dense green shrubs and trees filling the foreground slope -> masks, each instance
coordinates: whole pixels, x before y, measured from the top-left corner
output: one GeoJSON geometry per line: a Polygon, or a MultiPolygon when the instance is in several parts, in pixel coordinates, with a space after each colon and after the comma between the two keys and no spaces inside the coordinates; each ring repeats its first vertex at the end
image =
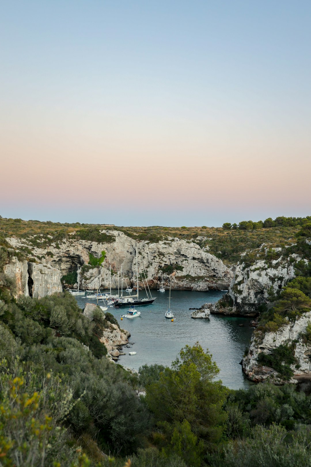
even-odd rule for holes
{"type": "Polygon", "coordinates": [[[112,316],[88,321],[67,293],[15,299],[2,279],[0,466],[310,466],[310,396],[229,390],[199,343],[131,374],[98,340],[112,316]]]}

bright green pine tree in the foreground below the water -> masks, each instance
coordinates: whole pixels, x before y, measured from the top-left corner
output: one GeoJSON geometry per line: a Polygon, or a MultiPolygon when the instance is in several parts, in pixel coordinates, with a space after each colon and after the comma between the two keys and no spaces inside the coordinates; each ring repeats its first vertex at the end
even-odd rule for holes
{"type": "Polygon", "coordinates": [[[218,372],[212,355],[197,342],[181,349],[172,369],[166,368],[159,380],[146,388],[147,405],[158,426],[165,427],[166,444],[171,442],[174,426],[184,420],[207,448],[221,439],[227,417],[222,410],[227,389],[220,381],[212,381],[218,372]]]}

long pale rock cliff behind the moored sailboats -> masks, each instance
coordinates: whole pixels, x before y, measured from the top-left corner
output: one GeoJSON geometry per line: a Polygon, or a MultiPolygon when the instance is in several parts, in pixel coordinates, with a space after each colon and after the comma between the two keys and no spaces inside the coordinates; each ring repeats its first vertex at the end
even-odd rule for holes
{"type": "MultiPolygon", "coordinates": [[[[158,243],[148,241],[136,241],[123,232],[104,231],[115,237],[111,243],[98,243],[96,241],[65,239],[48,248],[40,248],[40,238],[36,239],[36,246],[25,239],[15,237],[7,238],[7,241],[15,249],[29,248],[35,258],[45,266],[58,269],[61,276],[69,271],[76,270],[77,265],[87,265],[89,253],[100,257],[105,251],[105,260],[99,268],[84,267],[82,269],[83,284],[80,288],[85,289],[109,288],[111,266],[113,277],[112,287],[117,287],[116,271],[121,270],[127,278],[127,284],[134,285],[136,281],[136,258],[135,249],[138,248],[138,266],[140,272],[145,270],[148,285],[151,289],[157,289],[161,281],[162,268],[171,267],[164,274],[164,285],[168,287],[171,281],[172,289],[175,290],[199,290],[209,289],[222,290],[228,288],[233,273],[223,262],[210,255],[204,249],[192,241],[170,238],[158,243]],[[173,274],[171,274],[173,271],[173,274]]],[[[40,237],[40,236],[38,236],[40,237]]],[[[42,242],[43,243],[43,242],[42,242]]],[[[125,284],[124,284],[125,285],[125,284]]],[[[121,286],[121,281],[120,281],[121,286]]],[[[143,286],[143,283],[140,283],[143,286]]]]}

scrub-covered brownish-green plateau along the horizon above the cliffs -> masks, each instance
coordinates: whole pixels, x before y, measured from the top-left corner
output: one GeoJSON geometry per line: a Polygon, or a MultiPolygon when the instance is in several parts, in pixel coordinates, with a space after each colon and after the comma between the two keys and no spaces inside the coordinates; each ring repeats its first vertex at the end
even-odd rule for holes
{"type": "MultiPolygon", "coordinates": [[[[64,238],[91,240],[97,242],[114,241],[113,235],[103,230],[118,230],[136,240],[158,242],[168,237],[177,237],[197,242],[206,247],[209,252],[220,258],[225,264],[235,264],[241,253],[259,248],[263,243],[271,246],[281,246],[290,242],[308,218],[276,218],[264,222],[241,221],[239,225],[225,223],[223,227],[118,227],[105,224],[69,224],[38,220],[0,218],[0,245],[5,245],[5,238],[15,235],[25,238],[34,246],[41,248],[51,243],[58,243],[64,238]],[[276,219],[281,219],[276,222],[276,219]],[[285,220],[284,220],[285,219],[285,220]],[[291,219],[291,220],[289,220],[291,219]],[[293,220],[294,219],[294,220],[293,220]],[[269,222],[268,222],[269,221],[269,222]]],[[[31,257],[31,251],[25,251],[26,257],[31,257]]]]}

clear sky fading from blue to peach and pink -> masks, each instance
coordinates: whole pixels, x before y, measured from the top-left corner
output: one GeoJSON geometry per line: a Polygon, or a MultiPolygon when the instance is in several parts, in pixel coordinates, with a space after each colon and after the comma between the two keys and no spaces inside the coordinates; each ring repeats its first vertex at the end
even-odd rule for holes
{"type": "Polygon", "coordinates": [[[311,2],[0,5],[0,215],[311,215],[311,2]]]}

